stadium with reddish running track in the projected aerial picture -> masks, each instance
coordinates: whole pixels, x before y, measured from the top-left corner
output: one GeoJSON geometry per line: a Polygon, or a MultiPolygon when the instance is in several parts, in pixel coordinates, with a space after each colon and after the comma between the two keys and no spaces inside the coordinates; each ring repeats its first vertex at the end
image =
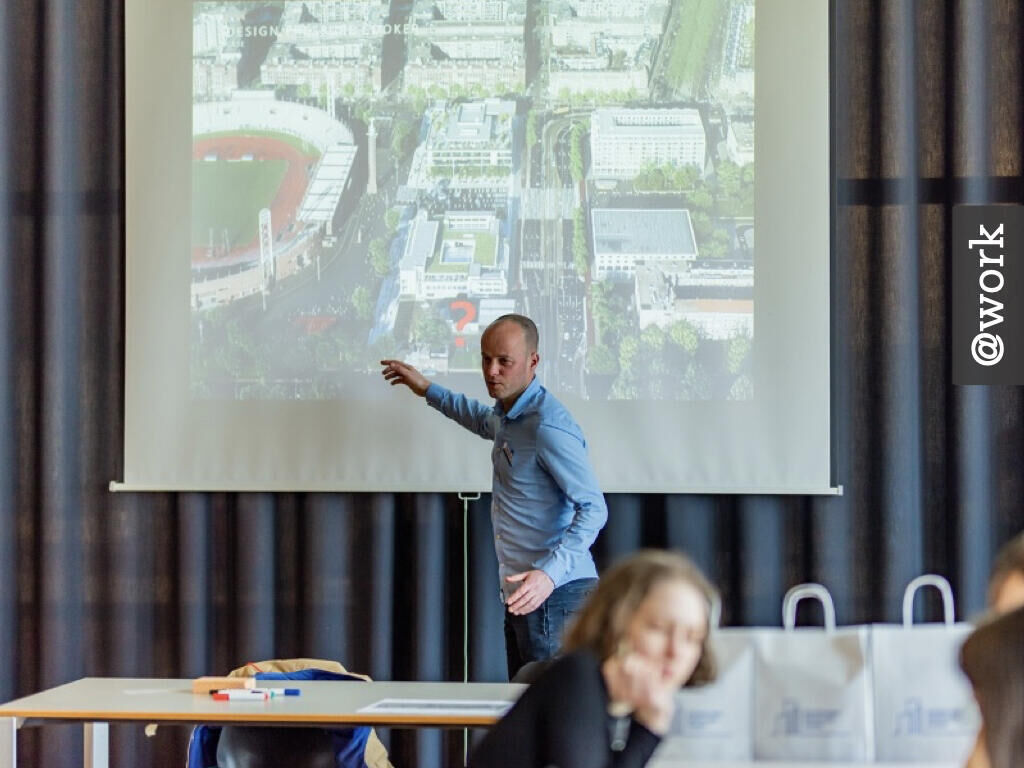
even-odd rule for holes
{"type": "Polygon", "coordinates": [[[351,130],[271,91],[193,105],[191,306],[270,293],[315,264],[352,184],[351,130]]]}

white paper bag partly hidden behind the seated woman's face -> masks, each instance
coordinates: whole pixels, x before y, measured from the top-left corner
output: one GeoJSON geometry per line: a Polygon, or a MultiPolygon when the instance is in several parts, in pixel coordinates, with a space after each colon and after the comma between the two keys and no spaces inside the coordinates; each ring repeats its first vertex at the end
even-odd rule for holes
{"type": "Polygon", "coordinates": [[[714,630],[710,644],[718,670],[715,682],[676,694],[676,715],[655,753],[657,760],[754,758],[752,631],[714,630]]]}

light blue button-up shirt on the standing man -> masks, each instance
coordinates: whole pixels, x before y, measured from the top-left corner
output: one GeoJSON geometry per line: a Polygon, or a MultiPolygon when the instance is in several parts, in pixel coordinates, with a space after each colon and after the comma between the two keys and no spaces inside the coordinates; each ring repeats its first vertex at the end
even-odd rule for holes
{"type": "Polygon", "coordinates": [[[427,402],[494,440],[490,522],[498,575],[508,598],[518,584],[505,578],[540,569],[555,587],[597,577],[590,547],[608,519],[587,456],[587,441],[569,412],[535,377],[505,413],[438,384],[427,402]]]}

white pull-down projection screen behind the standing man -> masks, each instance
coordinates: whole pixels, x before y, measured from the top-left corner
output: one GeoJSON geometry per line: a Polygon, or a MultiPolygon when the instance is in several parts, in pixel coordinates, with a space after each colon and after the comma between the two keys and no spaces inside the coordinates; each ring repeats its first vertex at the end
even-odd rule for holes
{"type": "Polygon", "coordinates": [[[126,35],[112,487],[487,490],[378,360],[484,399],[515,311],[605,492],[833,493],[825,0],[129,0],[126,35]]]}

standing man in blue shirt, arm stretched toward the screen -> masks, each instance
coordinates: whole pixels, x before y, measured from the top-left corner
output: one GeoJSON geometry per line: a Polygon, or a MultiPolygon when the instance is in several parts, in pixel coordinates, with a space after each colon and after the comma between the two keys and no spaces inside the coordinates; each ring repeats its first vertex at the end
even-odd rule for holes
{"type": "Polygon", "coordinates": [[[404,384],[471,432],[494,441],[495,529],[509,677],[553,656],[562,628],[597,583],[590,547],[608,512],[587,442],[565,407],[535,377],[537,326],[506,314],[480,337],[486,406],[431,383],[400,360],[381,360],[404,384]]]}

